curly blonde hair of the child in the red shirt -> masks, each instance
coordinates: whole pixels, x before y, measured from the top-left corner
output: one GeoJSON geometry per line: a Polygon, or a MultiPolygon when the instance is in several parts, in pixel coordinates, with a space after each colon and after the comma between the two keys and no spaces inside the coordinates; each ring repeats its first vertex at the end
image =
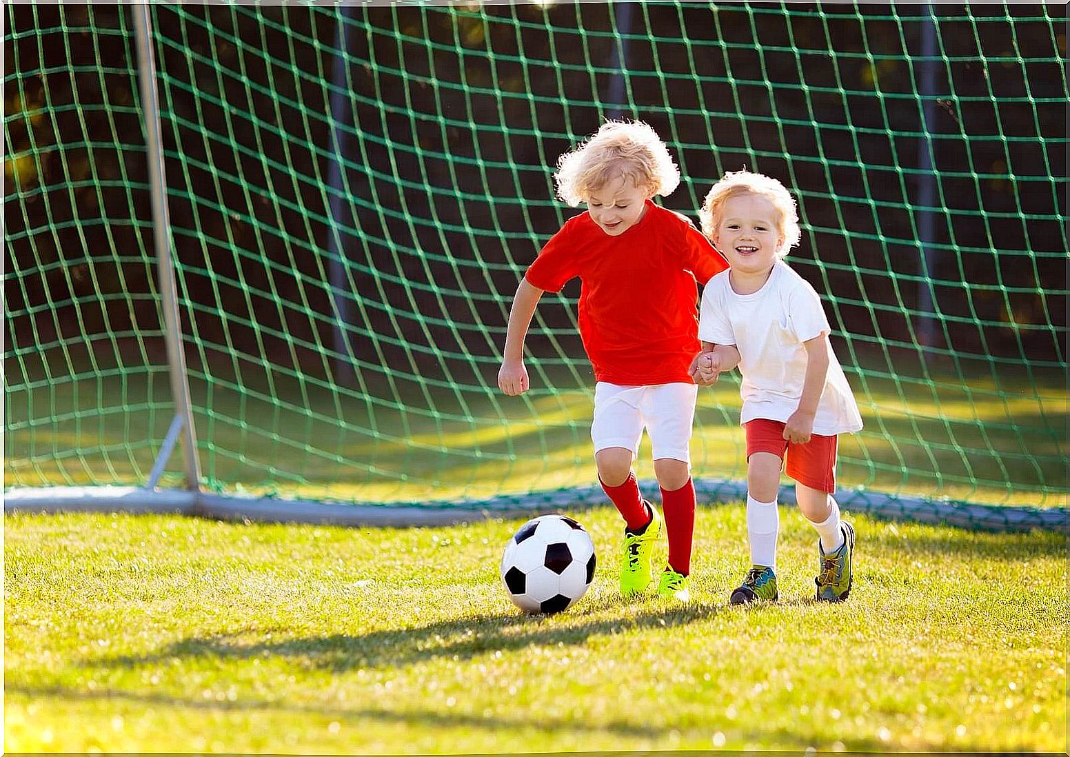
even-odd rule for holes
{"type": "Polygon", "coordinates": [[[670,195],[679,185],[679,168],[669,149],[642,121],[607,121],[557,158],[553,180],[557,197],[575,208],[618,176],[630,179],[647,197],[670,195]]]}

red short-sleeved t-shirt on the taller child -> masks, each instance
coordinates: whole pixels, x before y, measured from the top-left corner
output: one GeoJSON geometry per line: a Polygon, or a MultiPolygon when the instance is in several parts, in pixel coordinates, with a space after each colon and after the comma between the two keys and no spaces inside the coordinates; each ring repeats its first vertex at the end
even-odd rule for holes
{"type": "Polygon", "coordinates": [[[580,277],[580,337],[596,381],[643,387],[690,382],[699,351],[699,291],[729,267],[691,223],[651,200],[639,223],[617,237],[590,213],[565,222],[524,277],[559,291],[580,277]]]}

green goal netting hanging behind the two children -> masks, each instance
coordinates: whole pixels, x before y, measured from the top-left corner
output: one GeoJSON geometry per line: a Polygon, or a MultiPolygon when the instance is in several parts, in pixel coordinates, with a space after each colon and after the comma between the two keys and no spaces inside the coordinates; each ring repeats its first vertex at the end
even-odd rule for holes
{"type": "MultiPolygon", "coordinates": [[[[173,412],[129,13],[6,9],[9,487],[142,483],[173,412]]],[[[866,421],[841,485],[1065,502],[1064,5],[152,13],[202,483],[594,482],[576,282],[539,306],[532,391],[495,376],[517,282],[575,212],[557,155],[626,116],[681,165],[667,207],[694,217],[743,166],[798,198],[789,260],[866,421]]],[[[745,476],[738,405],[731,379],[701,393],[697,476],[745,476]]]]}

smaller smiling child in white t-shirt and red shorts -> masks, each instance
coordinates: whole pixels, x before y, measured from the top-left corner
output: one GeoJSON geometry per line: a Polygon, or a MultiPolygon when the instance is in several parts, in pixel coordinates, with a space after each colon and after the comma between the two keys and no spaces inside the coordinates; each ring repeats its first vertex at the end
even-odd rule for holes
{"type": "Polygon", "coordinates": [[[731,268],[710,278],[702,296],[696,381],[708,385],[734,367],[729,346],[738,350],[743,375],[753,564],[731,602],[778,599],[777,493],[785,461],[799,510],[820,536],[817,600],[841,602],[851,591],[855,532],[831,497],[837,435],[862,422],[821,300],[782,259],[800,237],[795,201],[776,179],[735,171],[709,191],[700,217],[731,268]]]}

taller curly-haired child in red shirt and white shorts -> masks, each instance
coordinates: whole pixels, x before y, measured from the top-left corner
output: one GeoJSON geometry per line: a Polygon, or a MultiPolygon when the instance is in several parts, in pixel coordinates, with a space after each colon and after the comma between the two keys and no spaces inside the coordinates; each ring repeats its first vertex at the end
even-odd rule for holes
{"type": "Polygon", "coordinates": [[[669,538],[658,594],[689,599],[694,530],[690,439],[698,387],[698,289],[728,268],[687,218],[652,201],[679,184],[664,143],[645,123],[609,121],[557,161],[557,195],[586,212],[565,222],[529,267],[513,301],[498,385],[528,391],[524,336],[545,291],[580,277],[579,327],[595,373],[594,441],[599,483],[625,520],[621,592],[654,578],[661,516],[631,469],[646,428],[669,538]]]}

